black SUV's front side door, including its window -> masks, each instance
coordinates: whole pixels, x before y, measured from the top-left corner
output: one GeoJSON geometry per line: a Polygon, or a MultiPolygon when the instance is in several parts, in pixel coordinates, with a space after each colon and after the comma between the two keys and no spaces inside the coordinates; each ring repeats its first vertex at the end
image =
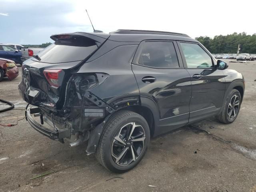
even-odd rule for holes
{"type": "Polygon", "coordinates": [[[182,60],[190,74],[192,94],[189,122],[217,114],[225,94],[222,70],[214,66],[214,59],[201,44],[178,42],[182,60]]]}

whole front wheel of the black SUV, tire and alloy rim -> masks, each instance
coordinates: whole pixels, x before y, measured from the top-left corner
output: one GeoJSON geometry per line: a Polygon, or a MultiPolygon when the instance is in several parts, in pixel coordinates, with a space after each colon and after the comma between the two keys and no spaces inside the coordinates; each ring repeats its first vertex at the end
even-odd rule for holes
{"type": "Polygon", "coordinates": [[[218,114],[216,118],[225,124],[234,122],[238,116],[241,102],[240,92],[236,89],[232,89],[222,106],[220,114],[218,114]]]}

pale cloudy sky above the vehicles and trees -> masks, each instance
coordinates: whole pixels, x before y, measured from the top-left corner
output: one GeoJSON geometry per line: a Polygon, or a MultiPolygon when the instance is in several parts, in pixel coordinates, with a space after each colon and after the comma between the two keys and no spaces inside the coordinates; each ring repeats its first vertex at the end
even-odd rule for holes
{"type": "Polygon", "coordinates": [[[141,29],[197,36],[256,33],[255,0],[0,0],[0,43],[42,44],[66,32],[141,29]]]}

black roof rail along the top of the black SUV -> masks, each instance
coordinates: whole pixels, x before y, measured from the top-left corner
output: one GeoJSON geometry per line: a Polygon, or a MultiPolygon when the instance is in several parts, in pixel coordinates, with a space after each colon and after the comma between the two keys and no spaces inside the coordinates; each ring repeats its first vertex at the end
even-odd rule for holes
{"type": "Polygon", "coordinates": [[[166,31],[149,31],[149,30],[132,30],[132,29],[118,29],[116,31],[110,32],[114,34],[155,34],[155,35],[172,35],[172,36],[182,36],[190,37],[182,33],[166,32],[166,31]]]}

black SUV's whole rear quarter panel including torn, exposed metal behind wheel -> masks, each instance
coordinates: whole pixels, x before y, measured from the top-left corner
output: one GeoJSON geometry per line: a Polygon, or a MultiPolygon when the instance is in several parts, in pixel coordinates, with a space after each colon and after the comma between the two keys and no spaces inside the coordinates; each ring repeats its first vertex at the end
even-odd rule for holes
{"type": "Polygon", "coordinates": [[[73,124],[73,133],[91,130],[100,124],[114,112],[114,104],[120,103],[122,97],[132,94],[132,101],[138,103],[138,85],[131,70],[136,48],[137,45],[118,46],[84,63],[72,75],[66,88],[64,108],[73,124]]]}

